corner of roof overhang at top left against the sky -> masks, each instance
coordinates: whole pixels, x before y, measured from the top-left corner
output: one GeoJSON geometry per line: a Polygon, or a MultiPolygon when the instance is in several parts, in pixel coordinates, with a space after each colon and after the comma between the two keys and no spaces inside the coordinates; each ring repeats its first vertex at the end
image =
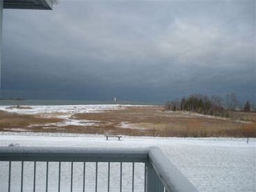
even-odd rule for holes
{"type": "Polygon", "coordinates": [[[59,0],[3,0],[3,8],[51,10],[59,0]]]}

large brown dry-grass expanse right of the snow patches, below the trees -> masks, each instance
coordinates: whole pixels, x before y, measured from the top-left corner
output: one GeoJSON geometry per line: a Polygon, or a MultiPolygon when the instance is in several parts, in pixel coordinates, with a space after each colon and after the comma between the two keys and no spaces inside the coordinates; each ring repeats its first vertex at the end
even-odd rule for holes
{"type": "MultiPolygon", "coordinates": [[[[236,114],[237,115],[237,114],[236,114]]],[[[256,114],[243,114],[256,118],[256,114]]],[[[237,115],[239,116],[239,114],[237,115]]],[[[160,107],[127,107],[125,110],[106,111],[105,113],[84,113],[74,115],[77,119],[100,120],[106,127],[102,133],[139,135],[139,136],[181,136],[181,137],[255,137],[255,123],[237,122],[236,118],[220,119],[196,116],[182,111],[166,113],[160,107]],[[120,128],[121,122],[132,124],[135,129],[120,128]],[[249,127],[249,128],[248,128],[249,127]],[[141,128],[141,130],[139,129],[141,128]]],[[[131,127],[132,128],[132,127],[131,127]]]]}

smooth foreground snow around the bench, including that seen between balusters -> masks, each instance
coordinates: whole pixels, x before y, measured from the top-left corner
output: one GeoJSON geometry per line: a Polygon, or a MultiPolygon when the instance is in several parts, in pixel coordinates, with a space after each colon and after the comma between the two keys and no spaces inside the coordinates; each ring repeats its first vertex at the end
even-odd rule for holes
{"type": "MultiPolygon", "coordinates": [[[[256,139],[250,138],[155,138],[124,136],[121,141],[115,138],[106,141],[100,135],[79,134],[14,134],[1,133],[0,146],[54,146],[54,147],[148,147],[159,146],[173,161],[179,170],[195,185],[199,191],[256,191],[256,139]]],[[[13,189],[20,184],[19,163],[13,163],[13,189]],[[16,184],[16,185],[15,185],[16,184]]],[[[74,191],[81,191],[81,163],[74,164],[74,191]],[[79,189],[80,187],[80,189],[79,189]]],[[[24,191],[29,191],[33,182],[33,164],[25,163],[26,177],[24,191]],[[30,182],[29,182],[30,181],[30,182]]],[[[95,164],[88,163],[86,185],[88,191],[94,191],[95,164]],[[89,177],[90,176],[90,177],[89,177]]],[[[61,167],[61,191],[70,190],[70,164],[61,167]]],[[[51,163],[51,191],[58,186],[58,163],[51,163]]],[[[106,191],[107,166],[99,163],[99,190],[106,191]]],[[[111,191],[119,190],[119,163],[111,164],[111,191]]],[[[5,191],[8,178],[8,163],[0,164],[0,189],[5,191]]],[[[123,168],[123,191],[131,191],[131,164],[123,168]]],[[[39,163],[37,169],[37,191],[45,191],[45,164],[39,163]],[[42,180],[42,182],[39,181],[42,180]]],[[[136,164],[135,191],[143,191],[143,166],[136,164]]],[[[18,188],[17,188],[18,189],[18,188]]],[[[17,190],[18,191],[18,190],[17,190]]]]}

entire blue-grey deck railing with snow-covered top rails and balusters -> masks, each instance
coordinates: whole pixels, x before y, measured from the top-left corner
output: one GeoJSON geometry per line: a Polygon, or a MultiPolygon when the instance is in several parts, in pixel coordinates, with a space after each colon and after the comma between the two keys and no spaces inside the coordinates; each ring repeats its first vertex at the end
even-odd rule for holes
{"type": "MultiPolygon", "coordinates": [[[[118,188],[122,191],[123,166],[122,163],[131,163],[131,191],[134,191],[134,167],[136,163],[143,163],[143,191],[163,192],[163,191],[197,191],[193,184],[170,162],[168,157],[159,147],[147,148],[99,148],[99,147],[0,147],[0,161],[8,161],[8,191],[12,188],[12,162],[21,162],[20,187],[24,189],[24,162],[33,161],[33,191],[36,191],[37,163],[46,162],[45,168],[45,189],[48,191],[49,184],[49,162],[58,162],[58,191],[61,190],[61,163],[71,162],[70,170],[70,190],[73,191],[73,163],[83,162],[82,189],[86,191],[86,163],[95,162],[95,191],[98,190],[98,163],[105,162],[107,168],[107,189],[110,191],[110,172],[112,163],[120,163],[120,178],[118,188]]],[[[3,170],[1,168],[1,170],[3,170]]],[[[102,174],[102,173],[100,173],[102,174]]],[[[7,176],[7,175],[6,175],[7,176]]],[[[90,175],[92,176],[92,175],[90,175]]],[[[115,175],[116,176],[116,175],[115,175]]],[[[136,177],[137,178],[137,177],[136,177]]],[[[136,179],[135,178],[135,179],[136,179]]],[[[16,184],[15,184],[16,185],[16,184]]],[[[116,182],[115,182],[116,186],[116,182]]],[[[117,187],[117,186],[116,186],[117,187]]],[[[13,191],[13,190],[12,190],[13,191]]],[[[57,191],[56,189],[54,191],[57,191]]]]}

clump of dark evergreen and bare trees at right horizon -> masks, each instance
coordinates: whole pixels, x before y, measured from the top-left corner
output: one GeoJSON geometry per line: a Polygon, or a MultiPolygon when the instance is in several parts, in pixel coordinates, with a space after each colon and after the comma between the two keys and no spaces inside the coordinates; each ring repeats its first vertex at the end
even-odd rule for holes
{"type": "Polygon", "coordinates": [[[205,115],[216,115],[227,117],[228,111],[255,111],[255,107],[251,106],[250,102],[246,102],[241,106],[237,95],[230,93],[221,97],[218,95],[190,95],[182,99],[175,99],[171,102],[166,102],[166,111],[190,111],[205,115]]]}

